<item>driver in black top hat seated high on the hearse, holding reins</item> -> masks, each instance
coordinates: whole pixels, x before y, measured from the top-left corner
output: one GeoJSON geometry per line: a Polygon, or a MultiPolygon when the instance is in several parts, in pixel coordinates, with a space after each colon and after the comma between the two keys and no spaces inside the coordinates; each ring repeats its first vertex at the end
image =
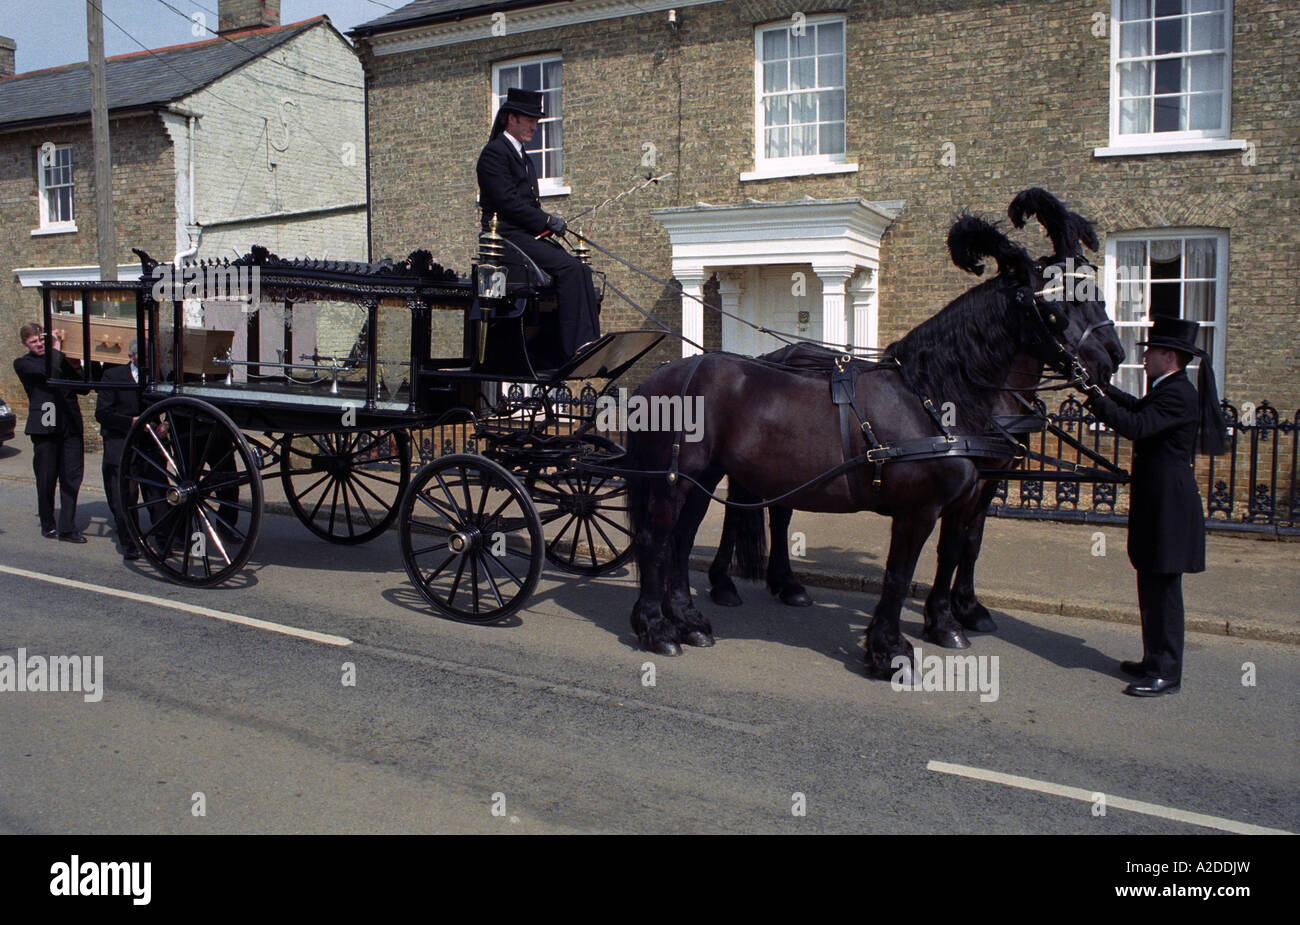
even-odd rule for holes
{"type": "Polygon", "coordinates": [[[497,216],[498,233],[555,278],[560,344],[569,356],[601,335],[599,304],[592,269],[555,239],[564,220],[542,210],[537,171],[524,146],[542,118],[542,95],[511,87],[497,112],[491,139],[478,155],[478,205],[482,227],[497,216]]]}

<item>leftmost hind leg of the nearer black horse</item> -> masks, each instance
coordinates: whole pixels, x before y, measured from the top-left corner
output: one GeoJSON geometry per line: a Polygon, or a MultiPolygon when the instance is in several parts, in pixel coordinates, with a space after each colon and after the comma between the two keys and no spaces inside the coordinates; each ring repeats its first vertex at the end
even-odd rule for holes
{"type": "Polygon", "coordinates": [[[632,607],[632,629],[641,646],[658,655],[681,655],[680,634],[664,615],[664,589],[672,568],[672,527],[676,504],[666,486],[629,486],[634,522],[633,547],[641,594],[632,607]]]}

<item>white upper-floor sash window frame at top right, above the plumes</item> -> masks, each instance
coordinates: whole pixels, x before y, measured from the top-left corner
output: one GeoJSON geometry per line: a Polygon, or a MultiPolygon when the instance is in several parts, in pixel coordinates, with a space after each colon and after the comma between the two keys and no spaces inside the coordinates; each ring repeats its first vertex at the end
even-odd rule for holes
{"type": "MultiPolygon", "coordinates": [[[[1152,0],[1154,4],[1156,0],[1152,0]]],[[[1110,71],[1110,90],[1109,90],[1109,146],[1105,148],[1093,149],[1093,155],[1097,157],[1113,157],[1122,155],[1158,155],[1158,153],[1176,153],[1176,152],[1193,152],[1193,151],[1243,151],[1247,148],[1247,143],[1243,140],[1235,140],[1231,138],[1232,131],[1232,0],[1223,0],[1223,107],[1221,110],[1221,122],[1218,129],[1184,129],[1179,131],[1145,131],[1145,133],[1127,133],[1121,134],[1119,131],[1119,90],[1121,90],[1121,56],[1119,45],[1122,39],[1122,23],[1123,19],[1119,18],[1123,0],[1110,0],[1110,55],[1109,55],[1109,71],[1110,71]]],[[[1200,13],[1183,13],[1184,18],[1188,16],[1200,16],[1200,13]]],[[[1152,19],[1154,17],[1154,6],[1152,6],[1152,19]]],[[[1209,53],[1219,53],[1218,51],[1209,53]]],[[[1202,57],[1204,53],[1193,52],[1191,49],[1176,53],[1179,60],[1188,60],[1192,57],[1202,57]]],[[[1150,48],[1150,53],[1140,56],[1144,60],[1154,62],[1161,56],[1154,53],[1154,48],[1150,48]]],[[[1164,56],[1165,60],[1174,57],[1164,56]]],[[[1126,58],[1126,61],[1130,58],[1126,58]]],[[[1152,81],[1154,81],[1154,74],[1152,74],[1152,81]]],[[[1152,87],[1154,95],[1154,87],[1152,87]]],[[[1190,91],[1186,91],[1190,92],[1190,91]]],[[[1152,126],[1154,127],[1154,126],[1152,126]]]]}

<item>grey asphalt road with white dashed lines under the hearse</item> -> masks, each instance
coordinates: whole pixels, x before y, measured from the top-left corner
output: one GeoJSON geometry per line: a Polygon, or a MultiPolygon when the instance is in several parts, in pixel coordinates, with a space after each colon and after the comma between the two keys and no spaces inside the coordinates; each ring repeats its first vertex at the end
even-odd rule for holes
{"type": "Polygon", "coordinates": [[[476,627],[425,608],[396,534],[332,547],[268,516],[240,581],[188,590],[121,563],[101,496],[87,546],[40,538],[31,492],[0,482],[0,656],[103,656],[104,686],[0,692],[4,833],[1300,831],[1294,647],[1191,634],[1183,691],[1136,700],[1134,627],[1010,613],[968,650],[997,656],[996,700],[894,691],[859,668],[862,595],[798,611],[742,583],[744,608],[702,603],[716,647],[650,657],[627,572],[547,569],[516,620],[476,627]]]}

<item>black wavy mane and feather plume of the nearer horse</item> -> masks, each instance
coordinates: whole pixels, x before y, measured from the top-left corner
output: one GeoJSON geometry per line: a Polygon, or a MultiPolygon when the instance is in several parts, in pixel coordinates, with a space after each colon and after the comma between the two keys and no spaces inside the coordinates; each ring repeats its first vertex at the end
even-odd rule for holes
{"type": "Polygon", "coordinates": [[[1017,295],[1028,292],[1032,259],[996,225],[962,214],[948,233],[953,262],[983,273],[980,257],[997,260],[997,275],[953,299],[885,348],[907,381],[937,405],[952,401],[966,426],[983,429],[996,388],[1020,349],[1017,295]]]}

